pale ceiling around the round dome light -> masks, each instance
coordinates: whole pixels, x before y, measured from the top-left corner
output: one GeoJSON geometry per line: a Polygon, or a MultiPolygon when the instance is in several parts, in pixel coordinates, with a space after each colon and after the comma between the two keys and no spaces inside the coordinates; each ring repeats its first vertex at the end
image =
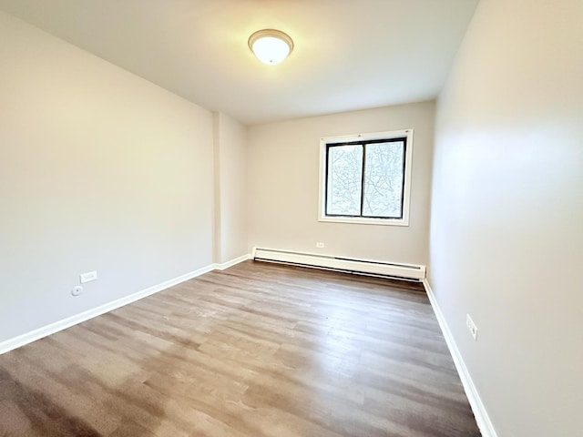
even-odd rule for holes
{"type": "Polygon", "coordinates": [[[0,0],[0,10],[245,124],[435,98],[477,0],[0,0]],[[292,55],[261,64],[276,28],[292,55]]]}

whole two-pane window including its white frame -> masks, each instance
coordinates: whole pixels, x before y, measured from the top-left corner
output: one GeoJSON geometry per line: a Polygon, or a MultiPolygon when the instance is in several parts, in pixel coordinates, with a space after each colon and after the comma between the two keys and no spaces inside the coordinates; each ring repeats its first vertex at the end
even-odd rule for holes
{"type": "Polygon", "coordinates": [[[320,142],[320,220],[408,226],[413,129],[320,142]]]}

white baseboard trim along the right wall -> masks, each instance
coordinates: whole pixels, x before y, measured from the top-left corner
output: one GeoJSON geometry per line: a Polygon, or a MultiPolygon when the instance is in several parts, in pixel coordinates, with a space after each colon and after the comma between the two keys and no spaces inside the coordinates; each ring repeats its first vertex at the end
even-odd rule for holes
{"type": "Polygon", "coordinates": [[[496,429],[490,420],[490,416],[488,415],[486,407],[480,398],[480,394],[476,389],[476,385],[474,384],[474,381],[472,381],[470,372],[467,370],[467,367],[465,367],[465,361],[462,358],[462,354],[460,353],[459,349],[457,348],[457,344],[455,344],[454,336],[452,335],[452,331],[449,329],[449,326],[445,321],[444,313],[439,308],[439,304],[435,299],[434,290],[431,289],[427,279],[423,280],[423,285],[425,291],[427,292],[427,297],[431,302],[431,306],[434,309],[435,317],[437,318],[439,327],[444,334],[445,342],[447,343],[449,352],[452,354],[452,358],[454,359],[455,369],[457,370],[459,378],[462,381],[465,395],[467,396],[467,400],[470,402],[474,416],[476,416],[476,423],[480,429],[480,432],[482,432],[482,437],[497,437],[498,434],[496,433],[496,429]]]}

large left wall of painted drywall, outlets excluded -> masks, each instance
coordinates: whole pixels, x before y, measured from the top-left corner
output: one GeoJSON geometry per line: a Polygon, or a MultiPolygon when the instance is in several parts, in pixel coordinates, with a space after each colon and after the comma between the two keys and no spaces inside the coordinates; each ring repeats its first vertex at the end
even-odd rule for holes
{"type": "Polygon", "coordinates": [[[210,111],[5,14],[0,59],[0,341],[212,263],[210,111]]]}

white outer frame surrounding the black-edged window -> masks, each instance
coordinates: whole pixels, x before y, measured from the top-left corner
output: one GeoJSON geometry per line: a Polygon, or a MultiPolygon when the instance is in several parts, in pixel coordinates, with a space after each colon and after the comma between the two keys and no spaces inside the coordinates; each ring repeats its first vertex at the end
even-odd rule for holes
{"type": "Polygon", "coordinates": [[[409,207],[411,202],[411,168],[413,166],[413,129],[373,132],[368,134],[345,135],[340,137],[320,138],[320,196],[318,198],[318,221],[333,223],[355,223],[361,225],[409,226],[409,207]],[[326,146],[350,141],[367,141],[373,139],[393,139],[404,137],[404,186],[403,217],[401,219],[369,219],[354,217],[326,216],[326,146]]]}

